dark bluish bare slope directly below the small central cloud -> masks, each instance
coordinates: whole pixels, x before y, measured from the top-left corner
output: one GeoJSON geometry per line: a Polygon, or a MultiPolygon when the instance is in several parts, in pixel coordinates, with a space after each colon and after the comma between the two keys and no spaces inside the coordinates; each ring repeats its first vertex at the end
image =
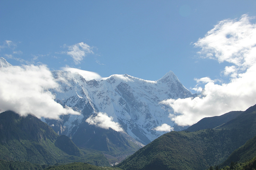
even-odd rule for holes
{"type": "Polygon", "coordinates": [[[102,151],[110,164],[121,162],[126,156],[141,148],[139,145],[127,140],[122,132],[98,128],[88,125],[86,122],[76,129],[72,140],[78,147],[102,151]]]}

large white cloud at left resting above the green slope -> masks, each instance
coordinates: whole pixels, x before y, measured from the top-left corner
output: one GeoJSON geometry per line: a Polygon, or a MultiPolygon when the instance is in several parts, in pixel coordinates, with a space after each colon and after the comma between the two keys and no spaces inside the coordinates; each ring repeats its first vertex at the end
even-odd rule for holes
{"type": "Polygon", "coordinates": [[[0,69],[0,111],[20,115],[32,113],[38,118],[58,119],[61,114],[80,114],[54,101],[49,89],[58,89],[52,73],[44,65],[12,66],[0,69]]]}

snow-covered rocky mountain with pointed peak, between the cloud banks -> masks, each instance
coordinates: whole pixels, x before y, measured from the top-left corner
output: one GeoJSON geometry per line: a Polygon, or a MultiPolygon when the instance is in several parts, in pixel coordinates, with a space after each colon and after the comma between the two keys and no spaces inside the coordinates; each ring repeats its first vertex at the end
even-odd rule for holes
{"type": "Polygon", "coordinates": [[[52,71],[52,74],[61,87],[59,91],[52,90],[56,101],[82,115],[63,116],[58,121],[46,119],[46,122],[59,134],[71,138],[87,118],[102,112],[112,117],[112,122],[119,123],[129,136],[147,144],[164,134],[154,130],[157,126],[175,126],[168,117],[172,108],[160,102],[169,98],[193,97],[171,71],[157,81],[127,74],[90,81],[69,71],[52,71]]]}

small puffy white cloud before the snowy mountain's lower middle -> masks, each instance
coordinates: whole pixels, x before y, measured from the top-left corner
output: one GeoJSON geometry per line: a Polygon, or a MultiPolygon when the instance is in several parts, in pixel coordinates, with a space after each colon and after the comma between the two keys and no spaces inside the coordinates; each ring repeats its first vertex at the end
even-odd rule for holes
{"type": "Polygon", "coordinates": [[[113,121],[113,117],[108,117],[107,113],[99,112],[95,117],[90,116],[85,120],[90,125],[95,125],[103,129],[113,129],[115,131],[123,131],[119,123],[113,121]]]}

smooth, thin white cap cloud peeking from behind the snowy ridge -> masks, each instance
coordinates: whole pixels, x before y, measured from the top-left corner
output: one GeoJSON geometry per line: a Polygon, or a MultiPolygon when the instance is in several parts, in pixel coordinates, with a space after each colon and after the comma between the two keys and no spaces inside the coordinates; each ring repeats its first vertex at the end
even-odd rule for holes
{"type": "Polygon", "coordinates": [[[101,76],[95,72],[89,72],[86,70],[80,70],[77,68],[70,68],[70,67],[63,67],[62,68],[64,71],[70,71],[71,73],[78,73],[82,75],[82,77],[89,81],[89,80],[101,80],[101,76]]]}

